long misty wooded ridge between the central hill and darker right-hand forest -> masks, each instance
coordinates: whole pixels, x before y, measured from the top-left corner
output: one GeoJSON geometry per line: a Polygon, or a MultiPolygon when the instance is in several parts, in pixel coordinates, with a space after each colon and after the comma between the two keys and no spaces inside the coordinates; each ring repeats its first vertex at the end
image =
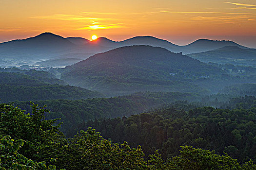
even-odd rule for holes
{"type": "MultiPolygon", "coordinates": [[[[116,118],[139,114],[147,109],[155,108],[165,103],[181,100],[198,101],[200,97],[192,93],[179,92],[139,92],[129,96],[114,98],[97,98],[86,100],[45,100],[33,102],[40,106],[47,105],[51,112],[46,114],[46,119],[60,118],[64,124],[61,131],[67,136],[77,132],[78,124],[90,119],[116,118]]],[[[30,100],[31,101],[31,100],[30,100]]],[[[14,102],[21,109],[31,113],[30,102],[14,102]]]]}

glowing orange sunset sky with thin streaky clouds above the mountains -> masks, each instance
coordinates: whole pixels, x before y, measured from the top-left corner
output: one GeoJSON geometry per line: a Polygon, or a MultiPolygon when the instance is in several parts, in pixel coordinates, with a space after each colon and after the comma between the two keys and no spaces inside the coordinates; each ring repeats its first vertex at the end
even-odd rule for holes
{"type": "Polygon", "coordinates": [[[0,42],[51,32],[121,41],[151,35],[256,48],[256,0],[0,0],[0,42]]]}

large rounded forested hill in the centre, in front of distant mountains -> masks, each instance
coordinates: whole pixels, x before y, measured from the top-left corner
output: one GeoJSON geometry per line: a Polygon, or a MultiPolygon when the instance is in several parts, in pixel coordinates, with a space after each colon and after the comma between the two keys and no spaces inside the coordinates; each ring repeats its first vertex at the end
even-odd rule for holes
{"type": "Polygon", "coordinates": [[[159,47],[130,46],[99,53],[66,67],[61,79],[109,95],[145,90],[206,92],[186,78],[218,76],[223,72],[181,53],[159,47]]]}

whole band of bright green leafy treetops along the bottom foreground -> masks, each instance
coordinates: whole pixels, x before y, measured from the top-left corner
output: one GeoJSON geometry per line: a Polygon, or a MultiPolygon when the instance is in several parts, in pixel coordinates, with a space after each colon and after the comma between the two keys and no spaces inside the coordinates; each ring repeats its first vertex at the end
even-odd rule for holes
{"type": "Polygon", "coordinates": [[[240,164],[228,154],[182,146],[179,155],[162,159],[156,151],[148,158],[140,146],[113,143],[94,129],[66,139],[45,120],[43,107],[32,103],[33,114],[0,104],[0,168],[3,170],[256,170],[252,161],[240,164]],[[21,147],[21,148],[20,148],[21,147]]]}

